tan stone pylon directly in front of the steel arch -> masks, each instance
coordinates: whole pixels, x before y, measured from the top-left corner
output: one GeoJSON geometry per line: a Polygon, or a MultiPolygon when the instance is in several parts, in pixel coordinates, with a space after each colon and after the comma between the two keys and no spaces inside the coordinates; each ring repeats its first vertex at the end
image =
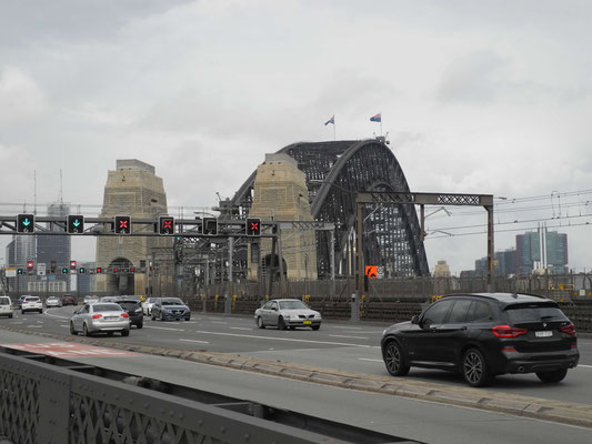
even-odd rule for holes
{"type": "MultiPolygon", "coordinates": [[[[251,218],[263,221],[313,221],[305,176],[288,154],[267,154],[257,169],[251,218]]],[[[282,258],[289,280],[317,280],[314,230],[282,230],[282,258]]],[[[270,239],[261,239],[260,263],[249,264],[249,279],[257,280],[262,268],[272,263],[270,239]],[[259,266],[258,266],[259,265],[259,266]]],[[[278,251],[275,252],[278,255],[278,251]]],[[[251,254],[249,258],[251,259],[251,254]]]]}

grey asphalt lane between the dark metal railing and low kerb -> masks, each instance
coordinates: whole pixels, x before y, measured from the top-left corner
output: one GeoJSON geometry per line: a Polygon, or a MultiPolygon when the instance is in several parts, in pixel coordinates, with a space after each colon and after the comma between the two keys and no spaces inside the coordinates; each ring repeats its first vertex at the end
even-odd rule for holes
{"type": "MultiPolygon", "coordinates": [[[[1,332],[1,337],[6,343],[56,341],[8,331],[1,332]]],[[[120,357],[80,356],[76,361],[430,444],[590,444],[590,428],[338,389],[177,359],[140,354],[120,357]]]]}

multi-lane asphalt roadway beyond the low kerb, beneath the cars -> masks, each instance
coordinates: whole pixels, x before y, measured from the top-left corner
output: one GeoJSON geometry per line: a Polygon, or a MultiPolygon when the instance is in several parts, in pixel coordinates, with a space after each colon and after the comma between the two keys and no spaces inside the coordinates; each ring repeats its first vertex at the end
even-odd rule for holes
{"type": "MultiPolygon", "coordinates": [[[[43,314],[16,313],[14,319],[0,319],[0,322],[31,331],[67,334],[72,311],[73,307],[68,306],[49,309],[43,314]]],[[[128,337],[113,339],[138,345],[207,350],[387,376],[379,346],[385,326],[325,321],[317,332],[309,329],[260,330],[252,317],[193,313],[189,322],[151,321],[144,316],[143,329],[133,329],[128,337]]],[[[580,339],[579,349],[580,365],[570,371],[561,384],[542,384],[534,374],[503,375],[496,377],[495,384],[488,390],[592,404],[592,340],[580,339]]],[[[461,376],[441,371],[412,369],[408,377],[464,386],[461,376]]]]}

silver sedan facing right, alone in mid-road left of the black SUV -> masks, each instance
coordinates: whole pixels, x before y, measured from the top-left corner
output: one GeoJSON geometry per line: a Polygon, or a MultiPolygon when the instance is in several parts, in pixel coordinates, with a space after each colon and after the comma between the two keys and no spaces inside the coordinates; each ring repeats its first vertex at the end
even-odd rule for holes
{"type": "Polygon", "coordinates": [[[277,326],[280,330],[297,326],[321,327],[321,313],[311,310],[298,299],[274,299],[254,312],[254,320],[260,329],[277,326]]]}

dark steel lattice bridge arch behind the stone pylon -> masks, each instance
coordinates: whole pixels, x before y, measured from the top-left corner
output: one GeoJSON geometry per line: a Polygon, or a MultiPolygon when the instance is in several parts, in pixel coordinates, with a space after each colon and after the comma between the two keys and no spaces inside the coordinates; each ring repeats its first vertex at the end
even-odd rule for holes
{"type": "MultiPolygon", "coordinates": [[[[298,162],[309,188],[311,212],[317,221],[335,224],[335,269],[354,274],[355,193],[358,191],[410,192],[401,165],[380,140],[293,143],[278,153],[298,162]]],[[[231,205],[247,216],[253,199],[257,171],[234,194],[231,205]]],[[[428,260],[420,224],[412,204],[364,208],[364,260],[382,265],[385,276],[428,275],[428,260]]],[[[318,274],[331,272],[330,236],[317,232],[318,274]]]]}

